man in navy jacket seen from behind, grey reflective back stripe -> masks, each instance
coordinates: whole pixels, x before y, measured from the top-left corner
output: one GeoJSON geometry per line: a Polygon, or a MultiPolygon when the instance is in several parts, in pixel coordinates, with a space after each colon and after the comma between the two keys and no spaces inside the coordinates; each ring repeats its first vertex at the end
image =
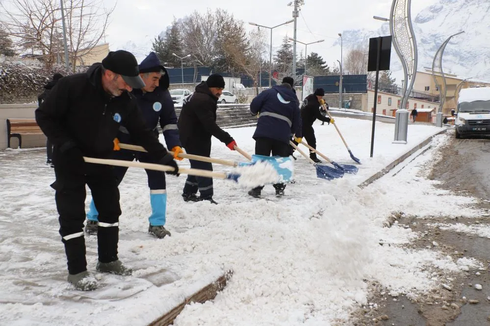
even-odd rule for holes
{"type": "MultiPolygon", "coordinates": [[[[295,140],[301,141],[301,114],[293,83],[291,77],[285,77],[283,84],[263,91],[250,103],[250,112],[253,116],[258,115],[253,136],[255,154],[270,156],[272,153],[272,156],[288,157],[291,134],[295,135],[295,140]]],[[[285,184],[273,186],[276,196],[284,195],[285,184]]],[[[262,188],[253,188],[248,194],[259,198],[262,188]]]]}

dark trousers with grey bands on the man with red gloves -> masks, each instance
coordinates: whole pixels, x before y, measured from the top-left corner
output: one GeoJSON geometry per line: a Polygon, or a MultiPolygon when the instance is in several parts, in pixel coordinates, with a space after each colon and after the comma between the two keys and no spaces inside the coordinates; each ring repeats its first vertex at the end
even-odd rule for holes
{"type": "MultiPolygon", "coordinates": [[[[209,157],[211,155],[211,140],[204,143],[192,142],[191,145],[187,145],[187,147],[185,147],[185,152],[187,154],[209,157]]],[[[213,170],[213,164],[208,162],[189,160],[189,163],[191,164],[191,168],[193,169],[202,169],[208,171],[213,170]]],[[[187,179],[185,180],[185,185],[182,192],[189,195],[196,194],[198,190],[201,198],[212,197],[214,194],[213,178],[187,175],[187,179]]]]}

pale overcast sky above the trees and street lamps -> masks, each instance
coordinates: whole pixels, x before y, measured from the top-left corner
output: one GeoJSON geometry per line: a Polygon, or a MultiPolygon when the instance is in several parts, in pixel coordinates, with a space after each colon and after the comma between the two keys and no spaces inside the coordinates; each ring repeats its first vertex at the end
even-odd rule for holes
{"type": "MultiPolygon", "coordinates": [[[[107,31],[106,42],[111,50],[122,47],[128,41],[137,46],[149,44],[174,17],[182,18],[192,11],[205,12],[207,8],[218,6],[245,23],[254,22],[274,26],[292,19],[289,0],[242,0],[242,1],[204,1],[204,0],[118,0],[107,31]],[[214,3],[214,5],[211,5],[214,3]]],[[[348,29],[365,28],[376,30],[382,24],[372,17],[389,16],[392,0],[305,0],[297,20],[298,41],[310,43],[324,39],[323,43],[312,44],[308,52],[318,52],[330,66],[340,58],[340,47],[333,46],[337,33],[348,29]]],[[[412,0],[413,18],[423,8],[436,0],[412,0]]],[[[104,0],[106,6],[114,5],[115,0],[104,0]]],[[[247,29],[257,28],[247,24],[247,29]]],[[[269,32],[268,32],[269,33],[269,32]]],[[[267,34],[270,35],[270,34],[267,34]]],[[[283,37],[293,36],[293,23],[273,30],[273,51],[281,45],[283,37]]],[[[378,35],[373,35],[378,36],[378,35]]],[[[299,51],[305,46],[297,44],[299,51]]],[[[348,49],[344,47],[344,55],[348,49]]]]}

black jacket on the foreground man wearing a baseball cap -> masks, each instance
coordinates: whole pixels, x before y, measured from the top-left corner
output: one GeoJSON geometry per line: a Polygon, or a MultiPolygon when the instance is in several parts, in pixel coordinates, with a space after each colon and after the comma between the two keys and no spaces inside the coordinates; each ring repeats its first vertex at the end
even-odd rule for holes
{"type": "Polygon", "coordinates": [[[109,158],[121,125],[128,129],[134,143],[143,146],[155,160],[167,154],[145,125],[134,97],[128,92],[114,97],[103,90],[102,64],[60,79],[35,115],[39,127],[61,155],[78,147],[85,156],[109,158]]]}

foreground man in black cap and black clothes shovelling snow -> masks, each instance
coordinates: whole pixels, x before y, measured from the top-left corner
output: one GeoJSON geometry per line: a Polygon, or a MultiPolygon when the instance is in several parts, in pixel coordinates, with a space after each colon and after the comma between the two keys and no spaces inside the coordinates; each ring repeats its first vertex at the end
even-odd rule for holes
{"type": "Polygon", "coordinates": [[[129,94],[133,87],[145,87],[134,56],[123,50],[109,52],[103,63],[85,73],[64,77],[36,110],[36,121],[54,144],[56,208],[59,233],[68,260],[68,281],[76,289],[97,288],[97,279],[87,272],[85,257],[85,186],[92,192],[99,211],[96,270],[101,273],[130,275],[131,269],[118,259],[119,189],[109,165],[85,163],[83,157],[112,157],[119,128],[129,131],[131,140],[143,146],[154,162],[170,165],[178,174],[172,155],[145,125],[136,101],[129,94]]]}

